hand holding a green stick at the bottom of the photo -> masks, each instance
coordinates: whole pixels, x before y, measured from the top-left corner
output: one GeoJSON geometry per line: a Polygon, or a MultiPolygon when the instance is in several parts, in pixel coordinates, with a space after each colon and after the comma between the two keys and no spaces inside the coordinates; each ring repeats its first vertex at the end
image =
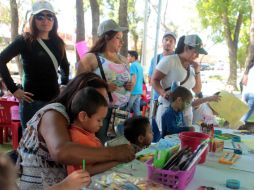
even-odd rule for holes
{"type": "Polygon", "coordinates": [[[79,190],[84,186],[87,187],[90,182],[91,178],[87,171],[76,170],[62,181],[62,185],[66,190],[79,190]]]}

